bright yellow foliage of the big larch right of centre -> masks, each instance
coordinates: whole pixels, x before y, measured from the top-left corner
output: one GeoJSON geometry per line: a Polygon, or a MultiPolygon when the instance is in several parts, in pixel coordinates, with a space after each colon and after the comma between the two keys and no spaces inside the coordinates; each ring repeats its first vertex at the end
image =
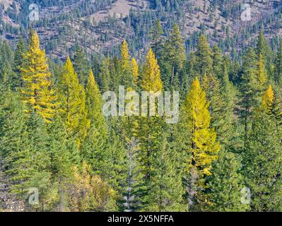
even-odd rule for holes
{"type": "Polygon", "coordinates": [[[211,129],[206,93],[196,78],[182,107],[182,123],[188,130],[192,160],[189,167],[196,169],[199,177],[211,175],[211,164],[216,160],[220,145],[216,132],[211,129]]]}

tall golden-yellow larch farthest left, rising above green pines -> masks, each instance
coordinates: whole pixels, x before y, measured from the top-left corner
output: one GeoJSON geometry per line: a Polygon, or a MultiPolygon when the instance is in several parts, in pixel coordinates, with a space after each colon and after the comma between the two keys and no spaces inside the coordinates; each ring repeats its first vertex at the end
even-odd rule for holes
{"type": "Polygon", "coordinates": [[[52,73],[49,71],[45,50],[40,49],[37,32],[31,34],[28,52],[23,57],[25,61],[20,71],[25,112],[37,112],[46,122],[51,122],[57,106],[57,96],[52,88],[52,73]]]}

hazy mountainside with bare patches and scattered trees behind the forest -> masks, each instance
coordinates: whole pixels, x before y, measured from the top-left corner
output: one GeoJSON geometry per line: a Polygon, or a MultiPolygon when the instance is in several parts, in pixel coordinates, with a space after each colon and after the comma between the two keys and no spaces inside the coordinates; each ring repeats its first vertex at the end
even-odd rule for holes
{"type": "Polygon", "coordinates": [[[276,40],[282,33],[281,0],[47,0],[34,1],[39,20],[29,20],[30,0],[0,0],[1,39],[11,43],[26,29],[34,28],[49,55],[64,58],[66,52],[80,44],[90,54],[114,52],[123,39],[138,54],[149,43],[153,21],[160,19],[168,35],[178,23],[193,48],[199,32],[226,52],[252,44],[252,38],[264,27],[266,37],[276,40]],[[248,3],[248,13],[243,4],[248,3]]]}

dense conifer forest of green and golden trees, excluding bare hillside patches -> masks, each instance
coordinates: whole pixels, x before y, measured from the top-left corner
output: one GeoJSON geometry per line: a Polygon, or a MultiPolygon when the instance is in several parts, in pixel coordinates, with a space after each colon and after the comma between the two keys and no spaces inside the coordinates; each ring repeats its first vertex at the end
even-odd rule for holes
{"type": "MultiPolygon", "coordinates": [[[[80,2],[69,6],[90,13],[112,3],[80,2]]],[[[186,4],[158,0],[150,10],[130,11],[122,20],[134,35],[108,51],[89,54],[76,39],[61,52],[45,43],[43,20],[32,29],[23,23],[15,40],[0,42],[1,211],[282,210],[280,35],[269,40],[260,23],[237,39],[216,42],[205,28],[186,37],[179,20],[186,4]],[[247,36],[253,42],[240,52],[230,48],[247,36]],[[135,114],[144,106],[130,105],[131,114],[105,115],[105,93],[118,97],[118,113],[131,103],[127,95],[121,101],[121,86],[137,102],[143,92],[178,92],[179,119],[168,123],[169,114],[151,115],[147,104],[145,114],[135,114]]],[[[228,4],[236,6],[218,0],[208,8],[235,17],[228,4]]]]}

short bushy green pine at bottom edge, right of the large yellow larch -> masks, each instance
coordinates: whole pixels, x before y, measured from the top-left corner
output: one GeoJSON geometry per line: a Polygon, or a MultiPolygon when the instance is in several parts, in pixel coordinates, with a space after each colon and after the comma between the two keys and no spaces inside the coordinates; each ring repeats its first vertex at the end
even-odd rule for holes
{"type": "Polygon", "coordinates": [[[242,164],[239,157],[227,150],[221,150],[213,163],[211,177],[208,177],[208,210],[220,212],[244,212],[248,203],[242,203],[242,189],[245,180],[240,174],[242,164]]]}

